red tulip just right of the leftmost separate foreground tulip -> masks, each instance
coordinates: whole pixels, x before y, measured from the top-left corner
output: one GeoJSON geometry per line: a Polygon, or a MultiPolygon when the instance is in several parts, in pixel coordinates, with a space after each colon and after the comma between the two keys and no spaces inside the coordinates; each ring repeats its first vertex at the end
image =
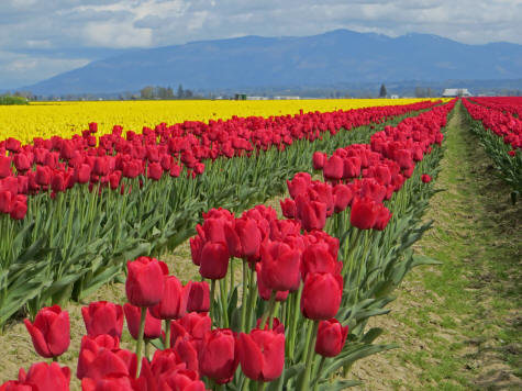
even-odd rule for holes
{"type": "Polygon", "coordinates": [[[109,334],[121,338],[123,329],[123,309],[120,304],[107,301],[89,303],[81,308],[81,315],[86,324],[87,335],[96,337],[109,334]]]}

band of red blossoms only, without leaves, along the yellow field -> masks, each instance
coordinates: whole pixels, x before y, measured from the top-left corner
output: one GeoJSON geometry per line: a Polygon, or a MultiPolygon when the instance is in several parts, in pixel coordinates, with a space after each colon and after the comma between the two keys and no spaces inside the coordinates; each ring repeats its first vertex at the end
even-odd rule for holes
{"type": "MultiPolygon", "coordinates": [[[[0,213],[23,219],[27,210],[26,196],[51,191],[64,192],[79,183],[110,187],[125,191],[122,178],[141,175],[159,180],[163,175],[178,177],[184,167],[196,177],[204,171],[204,160],[219,157],[249,156],[276,147],[284,150],[297,139],[313,142],[322,133],[335,134],[371,122],[380,122],[410,111],[427,109],[429,101],[384,108],[367,108],[330,113],[263,118],[233,118],[227,121],[185,122],[154,130],[144,127],[142,134],[114,126],[112,134],[96,137],[97,124],[91,123],[82,135],[70,139],[59,136],[35,138],[21,145],[9,138],[0,142],[0,213]],[[7,153],[9,153],[8,156],[7,153]]],[[[98,188],[100,189],[100,188],[98,188]]]]}

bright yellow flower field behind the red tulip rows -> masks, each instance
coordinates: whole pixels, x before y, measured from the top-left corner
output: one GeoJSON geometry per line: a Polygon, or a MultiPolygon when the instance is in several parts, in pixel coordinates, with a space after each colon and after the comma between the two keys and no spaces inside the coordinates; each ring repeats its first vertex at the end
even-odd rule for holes
{"type": "Polygon", "coordinates": [[[0,105],[0,141],[15,137],[22,144],[34,137],[70,137],[98,123],[98,135],[110,133],[113,125],[141,132],[165,122],[204,121],[237,116],[270,116],[309,111],[349,110],[389,104],[409,104],[426,99],[314,99],[266,101],[102,101],[34,102],[29,105],[0,105]]]}

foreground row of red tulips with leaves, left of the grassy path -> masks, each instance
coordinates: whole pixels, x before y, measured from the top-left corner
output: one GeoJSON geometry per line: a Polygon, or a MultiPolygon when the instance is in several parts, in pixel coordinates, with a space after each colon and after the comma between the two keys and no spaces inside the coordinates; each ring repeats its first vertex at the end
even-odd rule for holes
{"type": "MultiPolygon", "coordinates": [[[[184,287],[154,258],[130,261],[129,303],[82,309],[87,336],[76,372],[82,389],[341,390],[357,383],[331,377],[393,347],[373,344],[381,329],[365,331],[366,323],[388,312],[388,294],[408,270],[433,262],[414,257],[410,246],[430,226],[420,220],[453,105],[387,126],[369,144],[316,153],[313,164],[325,181],[307,172],[288,181],[291,199],[281,201],[288,220],[264,205],[240,217],[222,208],[204,213],[190,246],[210,284],[184,287]],[[241,281],[234,280],[237,262],[241,281]],[[135,354],[119,347],[123,314],[135,354]],[[157,348],[152,359],[142,358],[144,344],[145,351],[157,348]]],[[[68,315],[59,308],[43,309],[26,326],[42,356],[67,349],[68,315]]],[[[0,390],[44,383],[40,390],[68,390],[69,378],[69,369],[41,362],[0,390]]]]}

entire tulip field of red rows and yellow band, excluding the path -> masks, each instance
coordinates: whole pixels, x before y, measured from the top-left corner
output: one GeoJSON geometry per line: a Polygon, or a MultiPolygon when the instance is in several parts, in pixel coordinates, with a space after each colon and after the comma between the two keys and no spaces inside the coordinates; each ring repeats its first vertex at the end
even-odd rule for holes
{"type": "Polygon", "coordinates": [[[517,99],[176,104],[0,108],[0,327],[23,320],[42,357],[0,391],[357,386],[396,347],[373,319],[438,264],[412,246],[455,104],[522,191],[517,99]],[[182,283],[162,259],[187,241],[182,283]],[[90,300],[108,283],[125,302],[90,300]]]}

